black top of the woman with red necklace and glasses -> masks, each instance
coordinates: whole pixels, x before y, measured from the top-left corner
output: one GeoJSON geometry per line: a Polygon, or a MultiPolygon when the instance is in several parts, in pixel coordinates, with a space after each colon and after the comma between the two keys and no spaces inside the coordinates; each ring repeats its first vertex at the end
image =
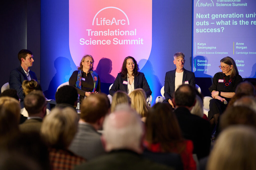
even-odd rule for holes
{"type": "MultiPolygon", "coordinates": [[[[230,75],[227,76],[223,72],[218,72],[214,75],[212,85],[209,87],[209,90],[210,92],[212,92],[213,90],[222,92],[235,92],[237,85],[242,81],[243,79],[239,74],[231,79],[230,75]],[[221,82],[221,80],[223,80],[223,82],[221,82]]],[[[221,97],[225,98],[226,100],[230,99],[223,96],[221,97]]]]}

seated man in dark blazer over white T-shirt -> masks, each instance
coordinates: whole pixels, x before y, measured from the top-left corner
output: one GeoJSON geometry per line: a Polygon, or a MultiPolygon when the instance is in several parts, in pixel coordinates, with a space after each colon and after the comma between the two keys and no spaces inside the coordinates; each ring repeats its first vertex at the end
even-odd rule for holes
{"type": "Polygon", "coordinates": [[[173,94],[180,85],[190,84],[191,86],[196,86],[195,73],[184,69],[184,58],[184,53],[175,53],[173,63],[176,65],[176,69],[165,74],[164,97],[166,102],[169,102],[173,107],[173,94]]]}

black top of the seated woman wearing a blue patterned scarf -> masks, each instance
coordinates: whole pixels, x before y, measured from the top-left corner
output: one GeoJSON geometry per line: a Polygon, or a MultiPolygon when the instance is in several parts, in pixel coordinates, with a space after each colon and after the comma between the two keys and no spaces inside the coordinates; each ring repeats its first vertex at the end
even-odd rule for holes
{"type": "MultiPolygon", "coordinates": [[[[76,87],[76,82],[77,82],[77,74],[78,74],[78,70],[74,71],[71,75],[71,77],[69,78],[69,85],[70,86],[74,86],[76,87]]],[[[85,92],[92,92],[93,87],[94,87],[94,83],[93,83],[93,79],[92,79],[92,75],[91,73],[88,73],[86,75],[86,73],[83,72],[82,74],[82,78],[85,79],[85,81],[82,80],[82,89],[79,89],[76,87],[77,89],[77,93],[80,94],[81,96],[84,96],[85,92]]],[[[98,76],[98,86],[96,87],[96,91],[100,91],[100,77],[98,76]]]]}

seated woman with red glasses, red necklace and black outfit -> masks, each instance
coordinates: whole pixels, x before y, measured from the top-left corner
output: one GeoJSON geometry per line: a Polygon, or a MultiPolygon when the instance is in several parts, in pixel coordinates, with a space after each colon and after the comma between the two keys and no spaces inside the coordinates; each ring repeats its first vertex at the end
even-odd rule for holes
{"type": "Polygon", "coordinates": [[[236,87],[243,81],[239,75],[235,61],[231,57],[224,57],[220,60],[222,72],[214,75],[212,85],[209,87],[211,96],[208,120],[210,124],[218,123],[218,117],[227,107],[227,102],[235,95],[236,87]]]}

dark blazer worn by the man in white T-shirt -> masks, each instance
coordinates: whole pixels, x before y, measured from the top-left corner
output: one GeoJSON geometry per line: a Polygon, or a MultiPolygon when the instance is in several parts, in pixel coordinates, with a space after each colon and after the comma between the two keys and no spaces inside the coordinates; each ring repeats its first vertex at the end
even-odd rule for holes
{"type": "MultiPolygon", "coordinates": [[[[175,70],[168,71],[165,74],[165,80],[164,80],[164,97],[165,100],[168,101],[168,99],[173,98],[173,94],[175,93],[175,70]]],[[[188,83],[192,86],[196,86],[196,80],[195,80],[195,73],[185,70],[183,71],[183,78],[182,78],[182,84],[185,83],[185,81],[188,81],[188,83]]]]}

